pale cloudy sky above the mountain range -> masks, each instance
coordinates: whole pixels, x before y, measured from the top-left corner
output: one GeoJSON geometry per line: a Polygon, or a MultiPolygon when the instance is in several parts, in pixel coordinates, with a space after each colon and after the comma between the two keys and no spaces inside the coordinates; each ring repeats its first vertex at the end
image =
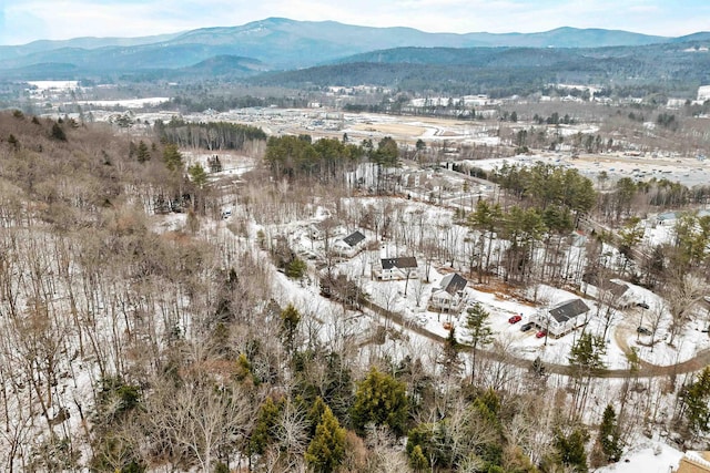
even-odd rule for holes
{"type": "Polygon", "coordinates": [[[144,37],[268,17],[430,32],[605,28],[678,37],[710,30],[709,0],[0,0],[0,44],[144,37]]]}

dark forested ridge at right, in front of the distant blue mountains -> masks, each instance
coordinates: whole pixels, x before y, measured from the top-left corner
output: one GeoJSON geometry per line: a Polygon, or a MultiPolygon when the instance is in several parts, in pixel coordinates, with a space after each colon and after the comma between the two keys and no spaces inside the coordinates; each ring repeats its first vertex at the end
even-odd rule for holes
{"type": "Polygon", "coordinates": [[[376,84],[415,91],[521,93],[547,83],[652,85],[694,96],[710,81],[710,53],[693,43],[594,49],[398,48],[331,65],[265,74],[253,83],[293,88],[376,84]],[[515,90],[518,89],[518,92],[515,90]]]}

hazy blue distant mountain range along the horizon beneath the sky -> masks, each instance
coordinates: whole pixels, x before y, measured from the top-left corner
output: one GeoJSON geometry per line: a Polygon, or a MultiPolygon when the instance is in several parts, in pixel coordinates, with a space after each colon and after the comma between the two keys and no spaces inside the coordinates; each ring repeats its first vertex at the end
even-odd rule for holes
{"type": "MultiPolygon", "coordinates": [[[[241,27],[204,28],[144,38],[78,38],[0,47],[0,79],[81,79],[154,73],[234,76],[347,62],[345,58],[396,48],[607,48],[708,41],[628,31],[559,28],[540,33],[427,33],[410,28],[369,28],[333,21],[270,18],[241,27]],[[170,72],[172,71],[172,72],[170,72]]],[[[358,61],[371,61],[359,56],[358,61]]]]}

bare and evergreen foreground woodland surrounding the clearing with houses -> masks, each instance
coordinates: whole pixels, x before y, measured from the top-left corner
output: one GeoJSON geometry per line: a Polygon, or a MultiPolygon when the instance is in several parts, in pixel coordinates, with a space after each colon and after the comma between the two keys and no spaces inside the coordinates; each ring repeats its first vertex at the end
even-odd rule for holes
{"type": "MultiPolygon", "coordinates": [[[[655,379],[639,377],[630,362],[628,376],[611,385],[596,377],[604,347],[591,336],[579,338],[565,376],[539,362],[520,366],[493,343],[480,306],[467,315],[466,343],[450,331],[444,342],[412,346],[402,359],[376,345],[364,356],[337,330],[318,336],[326,316],[338,320],[339,312],[297,308],[278,294],[260,248],[267,245],[251,245],[247,230],[250,223],[306,218],[317,203],[430,260],[466,258],[483,282],[504,274],[511,285],[562,286],[556,258],[580,219],[594,215],[621,228],[592,240],[597,250],[602,238],[633,248],[629,217],[640,200],[663,208],[689,204],[697,192],[655,182],[598,193],[574,171],[504,168],[494,176],[499,199],[457,214],[478,237],[473,249],[481,245],[469,259],[452,253],[450,241],[463,235],[450,225],[442,228],[445,238],[427,241],[417,239],[424,233],[416,216],[402,208],[341,205],[351,191],[338,176],[358,164],[382,169],[374,194],[396,192],[384,184],[400,160],[394,140],[272,137],[263,165],[231,191],[244,205],[229,232],[219,232],[222,196],[205,169],[185,168],[170,142],[226,146],[181,141],[180,133],[200,130],[217,141],[224,134],[239,148],[263,135],[193,126],[165,124],[134,136],[105,124],[0,114],[4,471],[584,472],[618,461],[639,429],[703,442],[708,369],[655,379]],[[165,213],[184,216],[184,225],[161,229],[155,222],[165,213]],[[494,234],[511,243],[497,261],[485,251],[494,234]],[[532,265],[540,249],[546,264],[532,265]],[[471,346],[498,356],[474,357],[468,372],[471,346]],[[599,392],[607,392],[600,405],[591,401],[599,392]]],[[[679,327],[697,289],[682,275],[700,278],[710,263],[710,232],[701,240],[696,217],[687,218],[688,238],[648,261],[629,249],[637,264],[619,268],[674,297],[679,327]]],[[[598,255],[591,267],[600,265],[598,255]]]]}

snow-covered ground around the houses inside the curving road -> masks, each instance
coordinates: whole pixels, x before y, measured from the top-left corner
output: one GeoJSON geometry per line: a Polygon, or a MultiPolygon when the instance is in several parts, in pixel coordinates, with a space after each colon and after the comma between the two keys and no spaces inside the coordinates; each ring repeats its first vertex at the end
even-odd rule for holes
{"type": "MultiPolygon", "coordinates": [[[[371,212],[377,213],[377,209],[382,210],[385,205],[398,206],[398,213],[393,216],[393,219],[420,218],[422,222],[425,223],[423,227],[415,225],[403,230],[410,234],[408,236],[409,240],[414,241],[418,237],[412,234],[418,235],[419,233],[423,235],[422,238],[427,238],[428,236],[447,239],[446,243],[450,244],[452,248],[454,248],[452,253],[456,255],[454,257],[454,264],[444,264],[440,259],[433,263],[428,269],[427,281],[424,274],[426,273],[428,264],[423,255],[413,251],[403,244],[395,245],[393,241],[379,241],[376,245],[377,249],[363,251],[349,259],[338,259],[334,263],[334,270],[356,280],[363,291],[369,295],[371,299],[378,306],[402,313],[412,323],[416,323],[437,336],[446,337],[448,330],[444,327],[444,323],[447,322],[456,329],[457,337],[460,341],[468,341],[469,336],[465,328],[465,310],[448,315],[439,313],[428,307],[428,299],[432,291],[439,286],[443,277],[454,270],[463,273],[464,275],[466,274],[465,271],[468,269],[468,265],[466,264],[464,255],[470,251],[469,247],[471,245],[468,229],[452,222],[450,210],[424,203],[406,200],[404,200],[404,203],[400,200],[388,200],[388,203],[384,199],[371,197],[361,199],[352,198],[347,200],[347,207],[352,209],[357,206],[365,206],[369,208],[371,212]],[[373,279],[373,265],[381,258],[412,255],[418,258],[419,277],[413,278],[409,281],[378,281],[373,279]]],[[[389,210],[392,212],[392,208],[389,210]]],[[[314,225],[317,225],[317,223],[327,215],[329,214],[315,214],[308,222],[294,222],[285,227],[281,226],[277,233],[288,235],[292,248],[304,259],[315,261],[324,255],[325,243],[322,239],[322,235],[321,237],[313,237],[313,228],[314,225]]],[[[377,236],[372,232],[363,230],[356,226],[352,228],[334,227],[329,230],[331,245],[335,239],[342,238],[355,229],[364,232],[371,241],[377,239],[377,236]]],[[[397,232],[397,229],[390,228],[389,232],[397,232]]],[[[473,238],[473,240],[475,239],[476,238],[473,238]]],[[[501,243],[498,243],[497,245],[500,244],[501,243]]],[[[582,247],[572,246],[571,250],[581,251],[582,249],[582,247]]],[[[572,258],[580,257],[582,257],[582,255],[572,256],[572,258]]],[[[546,362],[567,363],[570,349],[579,337],[581,329],[562,336],[559,339],[554,339],[551,337],[537,338],[537,330],[535,328],[523,332],[520,331],[520,327],[529,321],[537,310],[575,298],[581,298],[591,309],[591,317],[589,317],[589,322],[585,328],[586,331],[602,336],[605,325],[608,325],[605,336],[607,343],[605,362],[610,369],[629,368],[626,354],[629,349],[637,350],[640,359],[650,364],[671,366],[689,360],[698,354],[700,350],[710,348],[708,333],[701,331],[706,323],[703,320],[694,320],[687,325],[680,336],[676,338],[673,346],[668,345],[666,338],[670,323],[670,315],[665,308],[663,300],[653,292],[630,282],[618,281],[629,287],[628,297],[630,300],[633,302],[645,302],[650,309],[642,309],[637,307],[636,304],[631,304],[630,307],[612,311],[610,323],[606,323],[602,317],[605,308],[598,307],[597,301],[591,296],[580,296],[580,292],[570,292],[544,285],[538,286],[537,291],[532,288],[528,289],[527,295],[514,296],[506,294],[505,290],[494,289],[486,285],[476,285],[475,276],[469,276],[469,278],[471,280],[469,280],[466,288],[468,307],[470,307],[473,302],[480,302],[484,306],[490,313],[489,323],[496,337],[499,340],[505,340],[506,343],[514,349],[518,358],[534,360],[540,357],[546,362]],[[530,300],[537,300],[537,304],[532,304],[530,300]],[[651,338],[646,335],[639,335],[637,327],[648,327],[650,317],[656,310],[660,310],[662,315],[658,323],[658,330],[653,337],[655,343],[651,347],[651,338]],[[514,315],[521,316],[523,320],[514,325],[509,323],[508,319],[514,315]]]]}

